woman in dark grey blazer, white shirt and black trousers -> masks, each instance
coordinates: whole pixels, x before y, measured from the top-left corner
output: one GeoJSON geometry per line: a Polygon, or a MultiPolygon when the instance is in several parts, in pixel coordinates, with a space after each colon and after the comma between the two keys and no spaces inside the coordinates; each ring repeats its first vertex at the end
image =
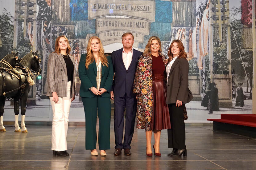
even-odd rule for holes
{"type": "Polygon", "coordinates": [[[171,129],[167,130],[168,148],[173,148],[167,156],[187,156],[185,145],[185,103],[188,103],[188,60],[184,45],[173,40],[168,48],[167,104],[171,119],[171,129]]]}

